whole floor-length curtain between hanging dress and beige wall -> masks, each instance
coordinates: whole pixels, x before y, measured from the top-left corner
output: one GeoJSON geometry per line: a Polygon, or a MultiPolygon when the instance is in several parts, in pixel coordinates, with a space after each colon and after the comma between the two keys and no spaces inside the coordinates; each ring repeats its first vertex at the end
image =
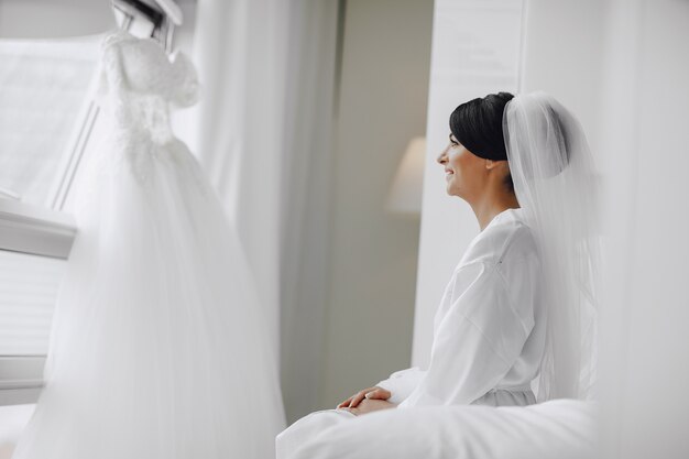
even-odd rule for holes
{"type": "Polygon", "coordinates": [[[259,280],[288,418],[315,407],[319,386],[339,4],[200,0],[197,7],[203,95],[192,150],[259,280]]]}

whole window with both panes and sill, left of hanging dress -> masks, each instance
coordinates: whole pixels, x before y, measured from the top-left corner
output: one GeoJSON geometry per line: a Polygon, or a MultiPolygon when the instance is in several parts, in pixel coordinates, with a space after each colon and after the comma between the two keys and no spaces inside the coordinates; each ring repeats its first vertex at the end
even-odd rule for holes
{"type": "Polygon", "coordinates": [[[100,36],[0,40],[0,405],[34,402],[74,219],[62,212],[97,113],[100,36]]]}

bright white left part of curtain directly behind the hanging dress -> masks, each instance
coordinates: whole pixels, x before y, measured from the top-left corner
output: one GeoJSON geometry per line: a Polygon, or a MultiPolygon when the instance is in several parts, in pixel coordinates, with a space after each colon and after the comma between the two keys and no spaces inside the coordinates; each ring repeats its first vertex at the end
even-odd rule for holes
{"type": "Polygon", "coordinates": [[[201,0],[194,42],[203,95],[192,150],[238,227],[271,337],[277,337],[285,11],[286,3],[275,0],[201,0]]]}

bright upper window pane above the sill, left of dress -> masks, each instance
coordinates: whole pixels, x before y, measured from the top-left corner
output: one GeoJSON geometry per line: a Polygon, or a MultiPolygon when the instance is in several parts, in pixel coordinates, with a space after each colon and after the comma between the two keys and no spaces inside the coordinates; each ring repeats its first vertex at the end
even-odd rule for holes
{"type": "Polygon", "coordinates": [[[54,207],[88,102],[98,39],[0,40],[0,198],[54,207]]]}

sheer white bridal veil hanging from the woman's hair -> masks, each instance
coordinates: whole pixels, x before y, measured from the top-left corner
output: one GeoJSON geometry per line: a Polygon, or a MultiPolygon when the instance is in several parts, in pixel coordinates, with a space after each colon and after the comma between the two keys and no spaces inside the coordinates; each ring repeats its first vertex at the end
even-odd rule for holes
{"type": "Polygon", "coordinates": [[[577,119],[545,92],[515,96],[503,132],[514,188],[544,266],[538,401],[589,398],[595,380],[599,183],[577,119]]]}

